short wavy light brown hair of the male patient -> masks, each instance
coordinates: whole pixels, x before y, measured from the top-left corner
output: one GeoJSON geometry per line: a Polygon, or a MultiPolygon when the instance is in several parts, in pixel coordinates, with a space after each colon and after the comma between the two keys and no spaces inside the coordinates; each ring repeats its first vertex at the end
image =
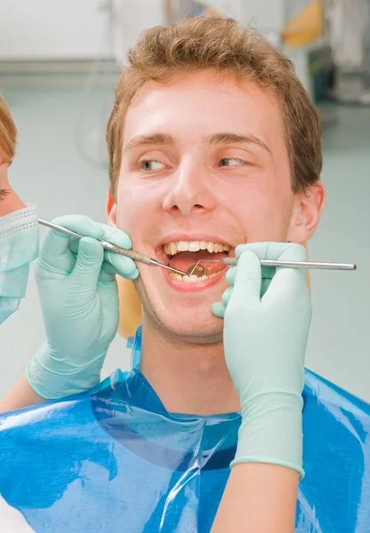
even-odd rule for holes
{"type": "Polygon", "coordinates": [[[216,69],[253,80],[279,99],[294,192],[306,192],[322,169],[321,126],[316,107],[295,76],[293,64],[254,28],[231,19],[194,17],[148,29],[128,55],[116,85],[106,141],[113,193],[122,162],[124,118],[130,101],[148,81],[164,82],[177,72],[216,69]]]}

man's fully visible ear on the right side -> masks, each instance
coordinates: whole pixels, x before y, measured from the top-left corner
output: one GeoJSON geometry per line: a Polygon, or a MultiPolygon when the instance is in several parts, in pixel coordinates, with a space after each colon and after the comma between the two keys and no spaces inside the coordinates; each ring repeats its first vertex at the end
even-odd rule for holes
{"type": "Polygon", "coordinates": [[[287,242],[305,243],[315,233],[326,200],[325,187],[315,183],[308,192],[296,195],[295,208],[287,230],[287,242]]]}

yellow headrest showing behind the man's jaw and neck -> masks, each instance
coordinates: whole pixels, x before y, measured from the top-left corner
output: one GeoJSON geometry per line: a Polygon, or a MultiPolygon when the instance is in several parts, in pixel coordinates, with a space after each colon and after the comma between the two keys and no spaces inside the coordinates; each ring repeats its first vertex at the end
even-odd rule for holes
{"type": "MultiPolygon", "coordinates": [[[[307,248],[306,244],[304,244],[304,247],[307,248]]],[[[141,322],[141,303],[133,282],[125,280],[120,276],[117,276],[117,282],[120,296],[120,323],[118,333],[123,338],[128,338],[135,334],[141,322]]],[[[309,271],[307,271],[307,283],[311,288],[309,271]]]]}

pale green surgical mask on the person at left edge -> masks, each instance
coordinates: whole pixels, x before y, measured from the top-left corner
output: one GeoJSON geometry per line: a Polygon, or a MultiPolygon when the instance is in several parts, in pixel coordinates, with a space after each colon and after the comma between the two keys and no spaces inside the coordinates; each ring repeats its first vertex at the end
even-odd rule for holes
{"type": "Polygon", "coordinates": [[[35,205],[0,217],[0,324],[26,294],[29,263],[38,256],[35,205]]]}

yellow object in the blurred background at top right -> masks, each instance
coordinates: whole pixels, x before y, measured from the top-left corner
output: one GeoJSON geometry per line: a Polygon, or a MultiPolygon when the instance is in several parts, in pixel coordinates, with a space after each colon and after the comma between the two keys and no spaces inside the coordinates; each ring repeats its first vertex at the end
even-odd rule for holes
{"type": "Polygon", "coordinates": [[[302,12],[289,20],[281,32],[288,46],[296,48],[311,44],[324,33],[324,9],[322,2],[312,2],[302,12]]]}

